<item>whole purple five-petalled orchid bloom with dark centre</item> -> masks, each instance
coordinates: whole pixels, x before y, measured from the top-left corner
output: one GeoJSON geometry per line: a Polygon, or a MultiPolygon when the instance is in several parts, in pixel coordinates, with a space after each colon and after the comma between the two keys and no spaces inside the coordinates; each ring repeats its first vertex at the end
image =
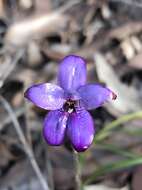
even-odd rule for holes
{"type": "Polygon", "coordinates": [[[65,57],[59,66],[58,86],[50,83],[33,85],[25,97],[50,111],[44,120],[43,135],[50,145],[70,139],[76,151],[86,150],[94,137],[93,119],[87,110],[95,109],[116,95],[98,84],[86,84],[86,62],[79,56],[65,57]]]}

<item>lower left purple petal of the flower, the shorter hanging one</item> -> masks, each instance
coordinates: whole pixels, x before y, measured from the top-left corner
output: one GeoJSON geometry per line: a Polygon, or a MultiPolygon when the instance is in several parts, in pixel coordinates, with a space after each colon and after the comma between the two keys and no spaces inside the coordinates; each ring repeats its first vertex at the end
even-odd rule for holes
{"type": "Polygon", "coordinates": [[[60,110],[50,111],[44,120],[43,136],[50,145],[63,143],[68,115],[60,110]]]}

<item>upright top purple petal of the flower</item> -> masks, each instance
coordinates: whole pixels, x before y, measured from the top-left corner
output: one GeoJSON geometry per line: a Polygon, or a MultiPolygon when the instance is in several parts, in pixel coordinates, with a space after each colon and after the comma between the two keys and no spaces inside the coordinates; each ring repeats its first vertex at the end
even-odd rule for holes
{"type": "Polygon", "coordinates": [[[60,64],[58,73],[59,85],[67,91],[75,91],[86,83],[86,63],[79,56],[65,57],[60,64]]]}

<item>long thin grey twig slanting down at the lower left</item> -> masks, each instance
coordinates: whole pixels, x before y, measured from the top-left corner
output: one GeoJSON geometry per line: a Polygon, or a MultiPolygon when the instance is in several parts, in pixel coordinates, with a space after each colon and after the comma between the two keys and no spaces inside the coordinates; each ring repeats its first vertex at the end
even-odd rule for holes
{"type": "Polygon", "coordinates": [[[20,124],[16,118],[16,116],[14,115],[14,112],[13,112],[13,109],[11,108],[10,104],[7,102],[7,100],[5,100],[5,98],[3,96],[0,95],[0,101],[1,103],[3,104],[4,108],[6,109],[6,111],[8,112],[8,114],[10,115],[11,117],[11,120],[14,124],[14,127],[15,127],[15,130],[19,136],[19,139],[23,145],[23,148],[24,148],[24,151],[25,153],[27,154],[30,162],[31,162],[31,165],[40,181],[40,184],[43,188],[43,190],[49,190],[49,186],[48,186],[48,183],[47,181],[44,179],[44,176],[43,174],[41,173],[40,171],[40,168],[35,160],[35,157],[34,157],[34,153],[32,151],[32,149],[29,147],[27,141],[26,141],[26,138],[21,130],[21,127],[20,127],[20,124]]]}

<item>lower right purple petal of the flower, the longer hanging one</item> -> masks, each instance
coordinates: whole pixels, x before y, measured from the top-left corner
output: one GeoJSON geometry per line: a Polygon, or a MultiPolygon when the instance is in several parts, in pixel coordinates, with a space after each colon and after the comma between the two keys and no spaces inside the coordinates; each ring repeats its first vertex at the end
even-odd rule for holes
{"type": "Polygon", "coordinates": [[[86,110],[70,114],[67,134],[78,152],[85,151],[91,145],[94,137],[94,124],[86,110]]]}

